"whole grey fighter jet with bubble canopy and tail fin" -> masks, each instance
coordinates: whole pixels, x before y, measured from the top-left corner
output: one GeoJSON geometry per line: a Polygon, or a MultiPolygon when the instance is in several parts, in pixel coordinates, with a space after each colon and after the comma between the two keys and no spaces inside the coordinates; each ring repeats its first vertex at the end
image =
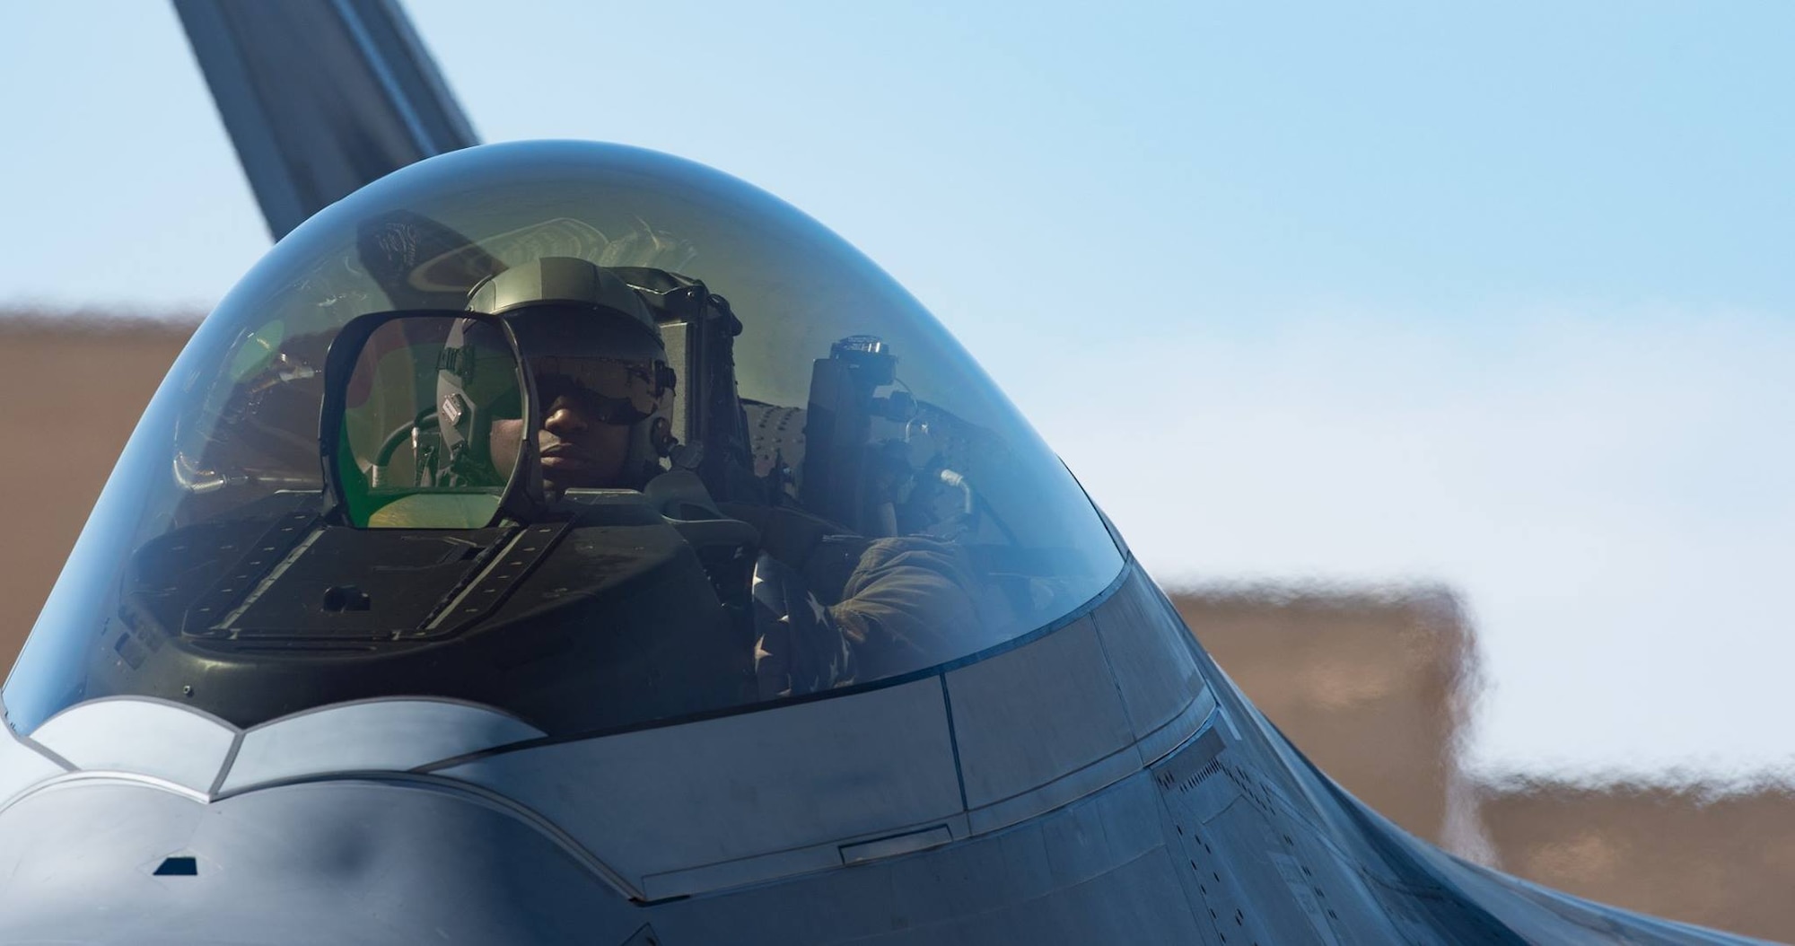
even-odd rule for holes
{"type": "Polygon", "coordinates": [[[0,941],[1736,942],[1344,793],[804,214],[178,9],[278,242],[0,693],[0,941]]]}

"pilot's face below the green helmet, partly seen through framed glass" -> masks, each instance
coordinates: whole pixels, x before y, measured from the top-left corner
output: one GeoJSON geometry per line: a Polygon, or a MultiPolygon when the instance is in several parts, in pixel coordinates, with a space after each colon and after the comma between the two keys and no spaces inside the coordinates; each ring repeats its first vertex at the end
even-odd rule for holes
{"type": "MultiPolygon", "coordinates": [[[[542,458],[542,485],[549,490],[621,488],[623,463],[630,452],[628,424],[614,424],[591,391],[578,386],[553,386],[544,391],[542,429],[537,454],[542,458]]],[[[517,465],[522,420],[497,420],[492,425],[492,458],[499,469],[517,465]]]]}

